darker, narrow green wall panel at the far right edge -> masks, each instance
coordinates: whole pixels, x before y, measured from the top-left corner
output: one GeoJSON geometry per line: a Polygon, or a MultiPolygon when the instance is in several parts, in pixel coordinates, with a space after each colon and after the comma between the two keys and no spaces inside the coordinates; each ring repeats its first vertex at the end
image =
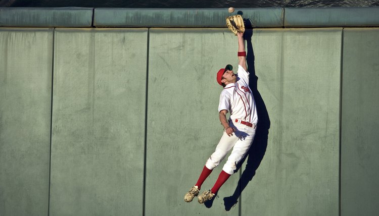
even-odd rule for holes
{"type": "Polygon", "coordinates": [[[379,29],[344,29],[341,215],[377,214],[379,29]]]}

